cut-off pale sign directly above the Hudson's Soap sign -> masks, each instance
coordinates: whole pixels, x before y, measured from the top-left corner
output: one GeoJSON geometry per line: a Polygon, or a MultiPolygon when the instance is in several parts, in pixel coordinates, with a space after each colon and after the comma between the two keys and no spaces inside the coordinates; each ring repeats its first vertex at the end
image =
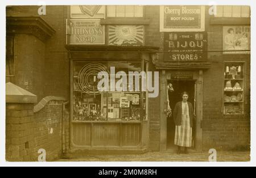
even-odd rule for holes
{"type": "Polygon", "coordinates": [[[73,19],[104,19],[105,6],[70,6],[70,18],[73,19]]]}

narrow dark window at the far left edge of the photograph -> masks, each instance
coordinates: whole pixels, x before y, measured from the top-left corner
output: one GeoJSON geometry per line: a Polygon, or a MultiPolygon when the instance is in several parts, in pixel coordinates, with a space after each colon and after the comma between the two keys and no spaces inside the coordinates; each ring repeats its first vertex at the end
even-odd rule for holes
{"type": "Polygon", "coordinates": [[[6,77],[14,77],[14,36],[6,36],[6,77]]]}

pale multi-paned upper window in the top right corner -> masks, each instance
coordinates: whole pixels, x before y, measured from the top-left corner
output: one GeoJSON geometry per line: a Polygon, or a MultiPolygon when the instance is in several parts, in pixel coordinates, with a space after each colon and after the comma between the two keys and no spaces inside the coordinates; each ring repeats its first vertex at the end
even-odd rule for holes
{"type": "Polygon", "coordinates": [[[217,6],[216,17],[249,18],[250,6],[217,6]]]}

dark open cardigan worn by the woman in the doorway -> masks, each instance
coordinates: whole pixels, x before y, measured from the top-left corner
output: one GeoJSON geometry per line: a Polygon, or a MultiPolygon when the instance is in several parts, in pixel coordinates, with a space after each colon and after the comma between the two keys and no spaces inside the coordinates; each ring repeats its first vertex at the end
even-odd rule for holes
{"type": "MultiPolygon", "coordinates": [[[[188,102],[189,109],[189,118],[190,118],[190,126],[193,127],[194,113],[193,113],[193,105],[188,102]]],[[[174,123],[175,125],[181,125],[182,121],[182,101],[177,103],[174,108],[174,123]]]]}

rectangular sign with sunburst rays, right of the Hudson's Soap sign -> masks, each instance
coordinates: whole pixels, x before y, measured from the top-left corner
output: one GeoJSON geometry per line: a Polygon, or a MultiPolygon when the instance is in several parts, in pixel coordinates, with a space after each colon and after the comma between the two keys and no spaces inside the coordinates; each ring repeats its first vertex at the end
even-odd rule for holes
{"type": "Polygon", "coordinates": [[[109,45],[143,46],[144,26],[109,26],[109,45]]]}

